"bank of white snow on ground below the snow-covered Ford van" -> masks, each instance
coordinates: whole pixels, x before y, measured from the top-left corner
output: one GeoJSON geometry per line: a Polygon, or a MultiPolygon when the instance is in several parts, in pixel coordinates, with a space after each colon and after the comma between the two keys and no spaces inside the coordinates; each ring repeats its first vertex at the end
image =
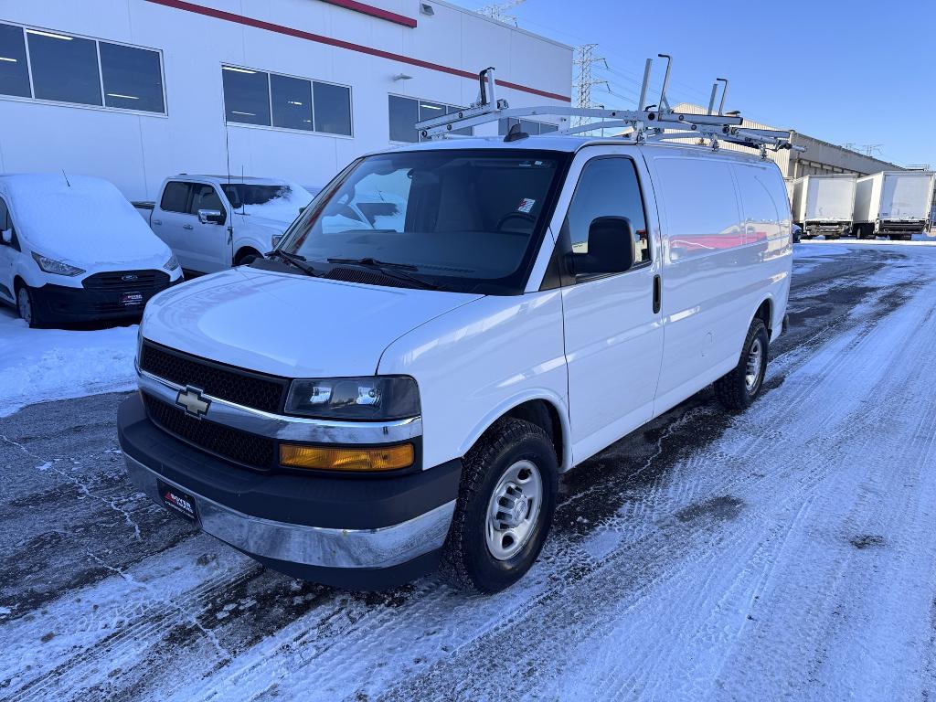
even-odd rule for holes
{"type": "Polygon", "coordinates": [[[29,329],[0,307],[0,417],[34,402],[133,389],[136,351],[136,325],[29,329]]]}

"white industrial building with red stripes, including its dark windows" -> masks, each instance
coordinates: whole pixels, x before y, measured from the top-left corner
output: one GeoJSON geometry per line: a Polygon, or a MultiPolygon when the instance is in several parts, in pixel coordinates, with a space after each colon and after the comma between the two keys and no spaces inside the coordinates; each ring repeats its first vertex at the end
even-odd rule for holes
{"type": "Polygon", "coordinates": [[[321,185],[487,66],[511,106],[568,105],[572,53],[441,0],[0,0],[0,172],[131,199],[179,172],[321,185]]]}

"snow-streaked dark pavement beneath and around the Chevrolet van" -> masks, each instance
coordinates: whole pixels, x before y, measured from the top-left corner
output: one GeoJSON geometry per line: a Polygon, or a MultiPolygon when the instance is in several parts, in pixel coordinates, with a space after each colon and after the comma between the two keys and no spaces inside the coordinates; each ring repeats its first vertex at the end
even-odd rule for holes
{"type": "Polygon", "coordinates": [[[492,597],[266,571],[135,495],[122,395],[0,419],[0,697],[936,695],[936,250],[797,245],[766,393],[710,392],[567,475],[492,597]]]}

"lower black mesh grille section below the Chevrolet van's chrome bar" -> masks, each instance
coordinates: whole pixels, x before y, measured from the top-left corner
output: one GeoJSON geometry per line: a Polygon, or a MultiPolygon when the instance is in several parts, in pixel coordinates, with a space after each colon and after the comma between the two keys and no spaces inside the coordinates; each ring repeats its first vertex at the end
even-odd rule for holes
{"type": "Polygon", "coordinates": [[[189,417],[181,407],[146,393],[143,404],[160,429],[215,456],[259,470],[270,470],[276,461],[276,442],[272,439],[189,417]]]}

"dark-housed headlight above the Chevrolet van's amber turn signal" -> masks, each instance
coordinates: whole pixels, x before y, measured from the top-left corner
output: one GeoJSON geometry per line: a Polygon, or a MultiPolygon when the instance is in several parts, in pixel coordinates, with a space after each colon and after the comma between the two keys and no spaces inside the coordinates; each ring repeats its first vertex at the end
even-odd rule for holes
{"type": "Polygon", "coordinates": [[[294,380],[286,414],[364,421],[418,417],[419,388],[408,375],[294,380]]]}

